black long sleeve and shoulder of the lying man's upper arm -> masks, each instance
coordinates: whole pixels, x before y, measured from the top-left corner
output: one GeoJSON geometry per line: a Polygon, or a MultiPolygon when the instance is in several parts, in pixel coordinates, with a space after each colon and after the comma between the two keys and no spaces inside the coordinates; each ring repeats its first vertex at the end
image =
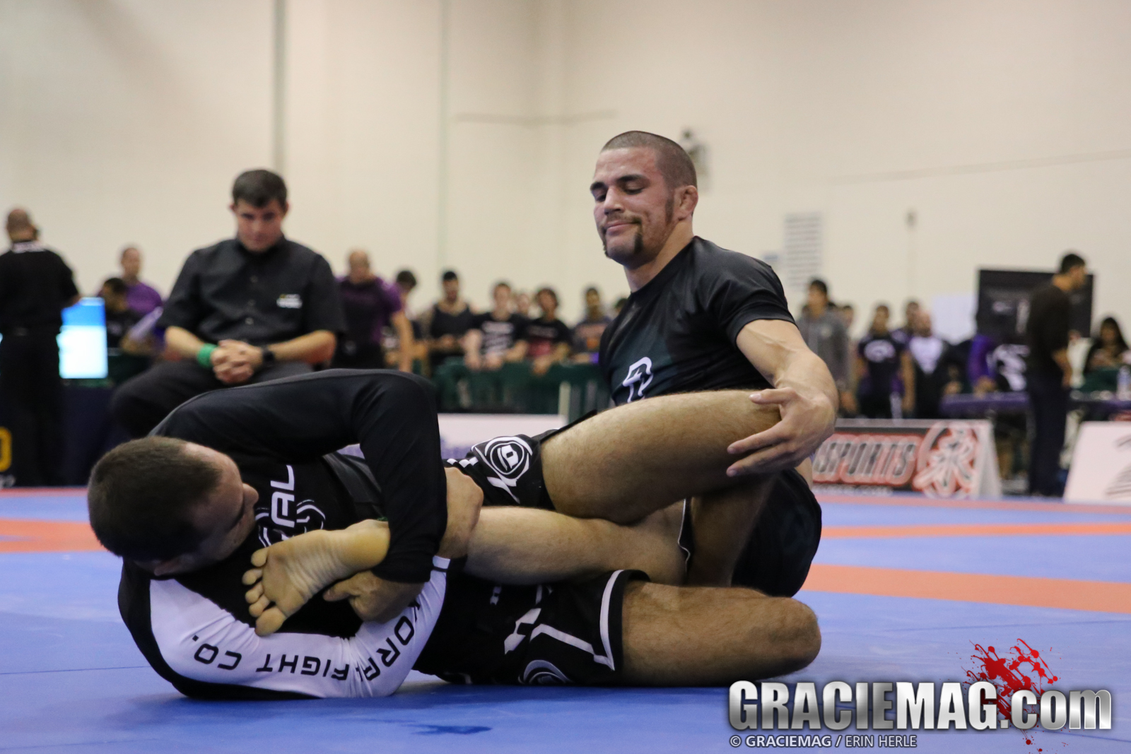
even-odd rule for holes
{"type": "Polygon", "coordinates": [[[448,487],[434,389],[426,380],[385,370],[329,370],[217,390],[185,401],[153,434],[228,453],[260,501],[278,500],[276,508],[288,504],[280,494],[287,491],[277,477],[265,478],[264,462],[317,461],[359,443],[391,535],[389,555],[373,573],[389,581],[429,580],[448,526],[448,487]]]}

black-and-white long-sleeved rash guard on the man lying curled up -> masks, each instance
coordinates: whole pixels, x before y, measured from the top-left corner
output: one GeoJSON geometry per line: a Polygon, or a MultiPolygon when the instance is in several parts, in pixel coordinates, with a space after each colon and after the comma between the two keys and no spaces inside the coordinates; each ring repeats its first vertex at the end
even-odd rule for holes
{"type": "Polygon", "coordinates": [[[431,387],[399,372],[334,370],[200,396],[154,433],[228,453],[259,501],[254,529],[219,563],[158,579],[124,562],[119,609],[153,668],[202,699],[396,691],[432,633],[447,586],[448,561],[433,556],[447,527],[447,485],[431,387]],[[354,442],[365,461],[323,454],[354,442]],[[399,616],[362,623],[347,601],[314,597],[278,633],[256,635],[240,581],[251,553],[381,514],[400,543],[396,573],[426,582],[399,616]]]}

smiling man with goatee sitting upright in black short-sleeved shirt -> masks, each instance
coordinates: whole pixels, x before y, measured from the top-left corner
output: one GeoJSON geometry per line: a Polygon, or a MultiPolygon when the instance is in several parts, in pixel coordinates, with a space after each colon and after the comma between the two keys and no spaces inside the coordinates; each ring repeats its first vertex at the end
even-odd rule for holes
{"type": "Polygon", "coordinates": [[[820,506],[796,468],[810,469],[832,432],[836,383],[805,346],[774,270],[694,235],[696,184],[694,164],[671,139],[629,131],[602,149],[594,219],[632,294],[604,332],[601,367],[616,404],[743,388],[778,407],[778,425],[727,449],[739,459],[728,474],[754,477],[692,505],[689,582],[784,593],[817,552],[820,506]],[[767,499],[765,475],[779,471],[767,499]],[[739,552],[737,563],[718,555],[739,552]]]}

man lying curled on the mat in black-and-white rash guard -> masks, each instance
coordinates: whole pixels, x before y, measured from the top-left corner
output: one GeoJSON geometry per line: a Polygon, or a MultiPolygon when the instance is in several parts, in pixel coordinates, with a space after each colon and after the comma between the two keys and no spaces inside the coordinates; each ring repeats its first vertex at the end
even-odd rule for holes
{"type": "Polygon", "coordinates": [[[793,599],[667,586],[683,575],[671,501],[732,484],[727,444],[775,414],[741,391],[659,398],[497,437],[444,469],[425,382],[333,370],[188,401],[159,436],[98,462],[90,522],[124,558],[136,643],[190,696],[378,696],[414,666],[473,683],[725,684],[804,667],[820,647],[793,599]],[[353,442],[364,461],[329,452],[353,442]],[[575,518],[596,515],[637,523],[575,518]],[[252,553],[381,517],[380,565],[257,633],[241,584],[252,553]],[[390,577],[422,584],[391,615],[390,577]]]}

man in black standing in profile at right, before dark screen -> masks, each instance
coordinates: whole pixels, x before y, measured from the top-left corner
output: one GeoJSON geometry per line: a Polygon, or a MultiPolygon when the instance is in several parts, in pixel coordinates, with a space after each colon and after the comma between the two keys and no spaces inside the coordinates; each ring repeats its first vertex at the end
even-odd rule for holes
{"type": "Polygon", "coordinates": [[[1059,497],[1060,452],[1064,447],[1068,393],[1072,365],[1068,361],[1069,294],[1083,287],[1088,266],[1069,252],[1061,258],[1060,272],[1029,300],[1025,339],[1029,346],[1026,370],[1034,436],[1029,454],[1029,493],[1059,497]]]}

